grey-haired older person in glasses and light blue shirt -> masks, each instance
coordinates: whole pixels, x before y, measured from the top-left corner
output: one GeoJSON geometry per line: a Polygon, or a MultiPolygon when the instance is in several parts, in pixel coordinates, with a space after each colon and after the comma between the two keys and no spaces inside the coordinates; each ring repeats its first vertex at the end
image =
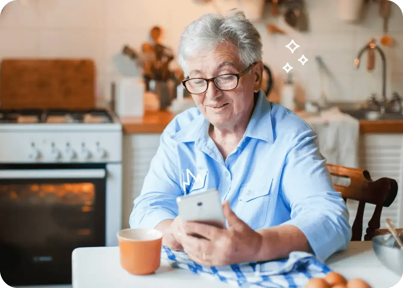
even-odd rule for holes
{"type": "Polygon", "coordinates": [[[163,245],[202,265],[292,251],[325,260],[345,249],[349,214],[317,136],[260,91],[262,43],[244,14],[197,19],[185,29],[178,56],[197,108],[177,115],[162,133],[130,226],[162,231],[163,245]],[[190,177],[183,191],[187,169],[199,181],[190,177]],[[178,216],[178,196],[210,188],[220,192],[226,229],[178,216]]]}

